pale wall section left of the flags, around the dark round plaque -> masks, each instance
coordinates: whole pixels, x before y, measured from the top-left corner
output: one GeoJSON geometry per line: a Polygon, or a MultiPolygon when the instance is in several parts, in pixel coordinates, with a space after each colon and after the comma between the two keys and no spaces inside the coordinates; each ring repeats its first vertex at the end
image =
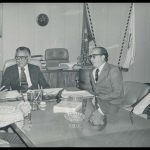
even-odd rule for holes
{"type": "Polygon", "coordinates": [[[3,57],[12,58],[15,49],[28,46],[32,54],[44,54],[45,49],[65,47],[70,60],[80,53],[82,4],[79,3],[4,3],[3,57]],[[49,16],[47,26],[36,23],[40,13],[49,16]]]}

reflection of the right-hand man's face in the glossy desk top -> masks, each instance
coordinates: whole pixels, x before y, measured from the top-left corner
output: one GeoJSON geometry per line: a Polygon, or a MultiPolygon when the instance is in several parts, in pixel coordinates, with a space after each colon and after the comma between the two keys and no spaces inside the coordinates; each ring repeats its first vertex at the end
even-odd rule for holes
{"type": "Polygon", "coordinates": [[[103,125],[104,124],[103,120],[104,116],[98,110],[95,110],[90,117],[90,122],[93,125],[103,125]]]}

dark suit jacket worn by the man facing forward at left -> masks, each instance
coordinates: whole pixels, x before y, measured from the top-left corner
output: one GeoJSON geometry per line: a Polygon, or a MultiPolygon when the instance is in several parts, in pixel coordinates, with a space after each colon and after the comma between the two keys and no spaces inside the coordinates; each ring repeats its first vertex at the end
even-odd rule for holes
{"type": "MultiPolygon", "coordinates": [[[[32,82],[30,89],[38,89],[38,85],[43,88],[49,88],[40,68],[36,65],[28,64],[29,74],[32,82]]],[[[17,64],[8,67],[2,78],[2,86],[8,90],[20,90],[19,71],[17,64]]]]}

